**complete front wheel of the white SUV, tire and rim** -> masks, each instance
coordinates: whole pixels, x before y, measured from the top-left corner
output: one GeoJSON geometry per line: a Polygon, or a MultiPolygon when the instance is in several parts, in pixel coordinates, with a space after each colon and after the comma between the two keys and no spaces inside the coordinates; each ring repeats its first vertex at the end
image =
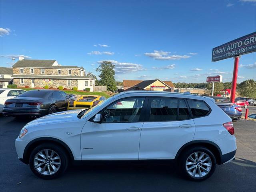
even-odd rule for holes
{"type": "Polygon", "coordinates": [[[41,144],[30,155],[32,172],[42,179],[53,179],[61,176],[68,167],[65,151],[53,144],[41,144]]]}

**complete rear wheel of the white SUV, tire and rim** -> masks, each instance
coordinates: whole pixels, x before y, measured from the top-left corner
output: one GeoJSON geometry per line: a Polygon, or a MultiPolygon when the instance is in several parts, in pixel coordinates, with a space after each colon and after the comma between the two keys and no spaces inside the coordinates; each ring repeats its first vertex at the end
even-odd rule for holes
{"type": "Polygon", "coordinates": [[[180,157],[180,170],[189,180],[206,180],[214,173],[215,168],[216,158],[205,147],[190,148],[180,157]]]}

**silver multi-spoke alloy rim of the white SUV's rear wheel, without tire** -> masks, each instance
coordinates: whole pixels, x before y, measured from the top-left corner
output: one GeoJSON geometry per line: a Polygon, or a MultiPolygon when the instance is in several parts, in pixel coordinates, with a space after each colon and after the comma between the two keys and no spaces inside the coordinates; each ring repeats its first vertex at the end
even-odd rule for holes
{"type": "Polygon", "coordinates": [[[212,160],[204,152],[194,152],[186,160],[186,170],[194,178],[206,176],[212,168],[212,160]]]}

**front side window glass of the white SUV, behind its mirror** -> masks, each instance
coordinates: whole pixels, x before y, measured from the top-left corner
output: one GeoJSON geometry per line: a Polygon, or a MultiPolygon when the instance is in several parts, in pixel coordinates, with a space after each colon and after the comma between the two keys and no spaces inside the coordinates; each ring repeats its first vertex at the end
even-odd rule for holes
{"type": "Polygon", "coordinates": [[[100,112],[102,122],[138,122],[145,98],[126,98],[100,112]]]}

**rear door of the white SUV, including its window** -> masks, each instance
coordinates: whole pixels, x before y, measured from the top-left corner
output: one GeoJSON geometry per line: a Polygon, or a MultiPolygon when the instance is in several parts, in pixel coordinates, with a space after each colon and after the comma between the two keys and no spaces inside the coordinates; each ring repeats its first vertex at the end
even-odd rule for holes
{"type": "Polygon", "coordinates": [[[185,99],[152,97],[140,136],[139,159],[174,159],[193,140],[195,124],[185,99]]]}

